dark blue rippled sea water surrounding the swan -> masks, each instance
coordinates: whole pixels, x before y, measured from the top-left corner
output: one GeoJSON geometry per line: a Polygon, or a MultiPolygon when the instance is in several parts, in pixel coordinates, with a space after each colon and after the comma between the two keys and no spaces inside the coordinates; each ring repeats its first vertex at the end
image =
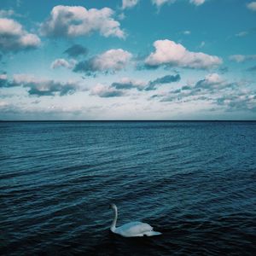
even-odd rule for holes
{"type": "Polygon", "coordinates": [[[5,255],[255,255],[256,122],[0,123],[5,255]],[[162,236],[109,232],[141,220],[162,236]]]}

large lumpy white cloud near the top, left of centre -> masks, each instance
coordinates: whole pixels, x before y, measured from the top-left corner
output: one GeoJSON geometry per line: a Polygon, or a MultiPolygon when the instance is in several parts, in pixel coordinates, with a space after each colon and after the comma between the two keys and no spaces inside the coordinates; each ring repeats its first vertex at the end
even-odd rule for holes
{"type": "Polygon", "coordinates": [[[82,6],[55,6],[41,24],[40,31],[49,37],[79,37],[100,32],[104,37],[125,38],[119,21],[113,19],[113,9],[85,9],[82,6]]]}

